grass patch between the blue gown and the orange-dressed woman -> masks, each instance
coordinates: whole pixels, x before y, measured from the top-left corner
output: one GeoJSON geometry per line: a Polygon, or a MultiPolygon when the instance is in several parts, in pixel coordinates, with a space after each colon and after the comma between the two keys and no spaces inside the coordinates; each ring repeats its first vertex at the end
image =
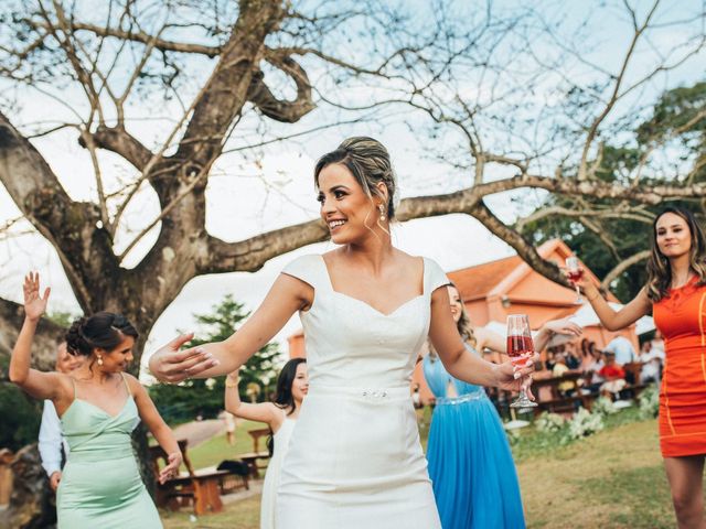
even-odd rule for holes
{"type": "Polygon", "coordinates": [[[599,432],[517,464],[530,528],[672,528],[656,421],[599,432]]]}

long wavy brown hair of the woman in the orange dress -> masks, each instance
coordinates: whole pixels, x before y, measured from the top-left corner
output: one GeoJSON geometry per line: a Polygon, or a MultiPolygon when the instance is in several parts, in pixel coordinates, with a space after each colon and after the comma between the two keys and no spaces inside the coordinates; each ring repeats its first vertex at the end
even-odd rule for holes
{"type": "Polygon", "coordinates": [[[672,213],[681,217],[686,223],[692,236],[692,248],[688,252],[688,264],[698,276],[698,284],[706,284],[706,238],[696,218],[688,209],[676,206],[668,206],[662,209],[652,223],[652,250],[648,261],[648,298],[653,302],[665,298],[672,285],[672,267],[670,260],[662,255],[657,246],[657,222],[663,215],[672,213]]]}

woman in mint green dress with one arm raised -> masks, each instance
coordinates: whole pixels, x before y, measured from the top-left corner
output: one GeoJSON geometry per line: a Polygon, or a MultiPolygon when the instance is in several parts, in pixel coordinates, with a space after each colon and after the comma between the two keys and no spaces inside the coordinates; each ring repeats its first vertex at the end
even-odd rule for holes
{"type": "Polygon", "coordinates": [[[169,455],[163,483],[179,471],[181,452],[172,431],[140,382],[124,371],[138,334],[124,316],[98,312],[74,322],[68,352],[87,361],[69,375],[30,368],[32,339],[46,309],[38,273],[24,279],[24,324],[12,352],[10,380],[32,397],[50,399],[61,417],[69,453],[56,493],[60,529],[161,528],[140,478],[130,434],[140,419],[169,455]]]}

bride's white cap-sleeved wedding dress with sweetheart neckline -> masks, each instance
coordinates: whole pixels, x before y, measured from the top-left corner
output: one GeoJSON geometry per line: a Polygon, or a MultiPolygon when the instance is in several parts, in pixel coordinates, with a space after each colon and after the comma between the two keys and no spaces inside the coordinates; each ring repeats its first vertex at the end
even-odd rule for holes
{"type": "Polygon", "coordinates": [[[300,312],[309,392],[282,465],[277,529],[440,529],[409,384],[446,274],[425,259],[424,292],[383,314],[335,292],[321,256],[284,273],[313,287],[314,301],[300,312]]]}

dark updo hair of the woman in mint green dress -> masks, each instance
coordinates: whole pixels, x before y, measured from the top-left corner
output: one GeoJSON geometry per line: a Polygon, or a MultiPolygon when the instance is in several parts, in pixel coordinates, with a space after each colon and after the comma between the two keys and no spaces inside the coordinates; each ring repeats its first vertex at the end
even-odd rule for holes
{"type": "Polygon", "coordinates": [[[115,349],[125,339],[139,336],[137,330],[121,314],[96,312],[90,317],[79,317],[66,332],[66,349],[72,355],[90,356],[100,348],[107,352],[115,349]]]}

